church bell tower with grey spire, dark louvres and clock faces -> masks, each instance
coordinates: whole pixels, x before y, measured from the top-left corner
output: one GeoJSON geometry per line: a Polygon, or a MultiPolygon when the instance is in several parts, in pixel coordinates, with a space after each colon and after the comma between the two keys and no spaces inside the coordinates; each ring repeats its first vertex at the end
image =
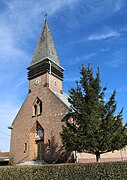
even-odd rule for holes
{"type": "Polygon", "coordinates": [[[33,90],[31,83],[37,86],[41,82],[43,87],[62,93],[64,69],[60,65],[47,20],[45,20],[31,64],[27,69],[30,81],[29,92],[33,90]]]}

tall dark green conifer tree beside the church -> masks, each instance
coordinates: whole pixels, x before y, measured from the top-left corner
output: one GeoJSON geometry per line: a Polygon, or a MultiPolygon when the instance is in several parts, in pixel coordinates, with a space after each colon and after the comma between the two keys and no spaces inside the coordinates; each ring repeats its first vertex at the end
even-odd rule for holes
{"type": "Polygon", "coordinates": [[[101,154],[127,145],[127,125],[123,124],[123,109],[115,113],[116,91],[105,100],[107,88],[101,88],[99,68],[94,77],[90,65],[87,68],[82,65],[80,74],[76,88],[69,90],[69,116],[73,122],[63,120],[61,138],[67,151],[92,153],[98,162],[101,154]]]}

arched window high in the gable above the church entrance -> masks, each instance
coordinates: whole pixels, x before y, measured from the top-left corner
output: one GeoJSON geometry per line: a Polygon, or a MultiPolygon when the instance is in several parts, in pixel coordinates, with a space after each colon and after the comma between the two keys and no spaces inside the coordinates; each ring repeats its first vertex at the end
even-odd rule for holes
{"type": "Polygon", "coordinates": [[[39,116],[42,113],[42,101],[37,97],[33,104],[33,116],[39,116]]]}

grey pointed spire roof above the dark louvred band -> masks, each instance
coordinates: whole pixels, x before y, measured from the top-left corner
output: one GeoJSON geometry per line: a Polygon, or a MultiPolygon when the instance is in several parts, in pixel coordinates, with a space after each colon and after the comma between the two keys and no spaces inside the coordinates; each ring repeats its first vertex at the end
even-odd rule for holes
{"type": "Polygon", "coordinates": [[[45,59],[50,59],[55,64],[60,65],[47,20],[45,20],[44,27],[36,45],[31,65],[44,61],[45,59]]]}

